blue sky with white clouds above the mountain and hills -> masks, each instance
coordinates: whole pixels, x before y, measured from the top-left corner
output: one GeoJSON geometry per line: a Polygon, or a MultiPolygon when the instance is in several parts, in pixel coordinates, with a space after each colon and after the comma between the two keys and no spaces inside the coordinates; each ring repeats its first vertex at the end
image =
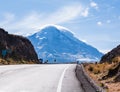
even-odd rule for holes
{"type": "Polygon", "coordinates": [[[0,0],[0,27],[28,35],[46,24],[67,27],[106,52],[120,43],[120,0],[0,0]]]}

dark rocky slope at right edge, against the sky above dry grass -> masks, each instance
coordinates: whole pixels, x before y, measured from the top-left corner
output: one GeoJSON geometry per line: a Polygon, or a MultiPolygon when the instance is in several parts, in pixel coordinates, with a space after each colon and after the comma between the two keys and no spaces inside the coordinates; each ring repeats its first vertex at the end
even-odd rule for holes
{"type": "Polygon", "coordinates": [[[108,52],[107,54],[105,54],[101,58],[100,63],[103,63],[103,62],[111,63],[115,57],[119,57],[119,56],[120,56],[120,45],[114,48],[113,50],[111,50],[110,52],[108,52]]]}

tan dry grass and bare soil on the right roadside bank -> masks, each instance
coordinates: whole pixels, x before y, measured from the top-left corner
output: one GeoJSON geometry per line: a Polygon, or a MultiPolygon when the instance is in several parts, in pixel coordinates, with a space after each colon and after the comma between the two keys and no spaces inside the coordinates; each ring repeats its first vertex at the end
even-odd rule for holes
{"type": "Polygon", "coordinates": [[[120,58],[114,58],[114,62],[111,64],[87,64],[85,65],[85,70],[98,85],[108,88],[108,92],[120,92],[120,83],[113,82],[115,76],[106,80],[101,80],[101,78],[108,73],[109,69],[116,67],[118,59],[120,58]]]}

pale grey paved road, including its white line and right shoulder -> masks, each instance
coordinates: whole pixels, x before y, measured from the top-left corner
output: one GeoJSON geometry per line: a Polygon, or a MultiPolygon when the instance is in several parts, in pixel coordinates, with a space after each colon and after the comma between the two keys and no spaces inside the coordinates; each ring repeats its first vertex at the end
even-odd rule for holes
{"type": "Polygon", "coordinates": [[[0,92],[83,92],[76,65],[0,66],[0,92]]]}

